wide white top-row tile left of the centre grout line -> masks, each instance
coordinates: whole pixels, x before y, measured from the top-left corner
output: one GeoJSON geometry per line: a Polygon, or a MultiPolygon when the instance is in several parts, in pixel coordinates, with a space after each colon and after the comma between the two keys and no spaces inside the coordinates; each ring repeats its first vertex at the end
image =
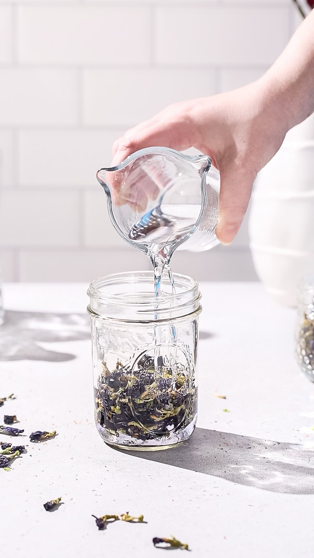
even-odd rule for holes
{"type": "Polygon", "coordinates": [[[26,64],[148,64],[144,7],[25,6],[18,11],[18,60],[26,64]]]}

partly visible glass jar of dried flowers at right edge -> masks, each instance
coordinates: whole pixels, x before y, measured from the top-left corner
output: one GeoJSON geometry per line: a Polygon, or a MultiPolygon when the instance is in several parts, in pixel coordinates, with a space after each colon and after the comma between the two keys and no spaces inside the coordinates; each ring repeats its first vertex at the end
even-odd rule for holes
{"type": "Polygon", "coordinates": [[[300,286],[296,339],[299,367],[314,382],[314,277],[306,277],[300,286]]]}

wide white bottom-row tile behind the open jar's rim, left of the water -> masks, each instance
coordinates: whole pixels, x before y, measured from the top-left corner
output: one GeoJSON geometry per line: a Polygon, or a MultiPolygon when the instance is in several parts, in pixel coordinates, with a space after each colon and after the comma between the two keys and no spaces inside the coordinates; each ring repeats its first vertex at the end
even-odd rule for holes
{"type": "Polygon", "coordinates": [[[121,251],[52,249],[49,252],[22,249],[18,261],[20,281],[91,282],[109,273],[149,268],[148,258],[132,248],[121,251]]]}

